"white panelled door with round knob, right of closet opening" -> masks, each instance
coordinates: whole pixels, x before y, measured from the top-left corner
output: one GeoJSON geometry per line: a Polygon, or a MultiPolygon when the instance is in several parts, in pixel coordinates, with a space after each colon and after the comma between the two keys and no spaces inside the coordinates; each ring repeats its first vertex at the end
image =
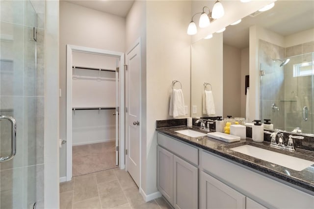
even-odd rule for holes
{"type": "Polygon", "coordinates": [[[141,50],[138,42],[127,53],[126,70],[126,126],[127,170],[139,186],[140,179],[140,99],[141,99],[141,50]]]}

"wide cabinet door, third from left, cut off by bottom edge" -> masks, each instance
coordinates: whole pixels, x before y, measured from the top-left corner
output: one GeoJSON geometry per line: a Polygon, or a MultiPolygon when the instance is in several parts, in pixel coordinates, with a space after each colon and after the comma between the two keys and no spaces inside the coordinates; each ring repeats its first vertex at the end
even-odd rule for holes
{"type": "Polygon", "coordinates": [[[245,209],[245,196],[201,171],[201,209],[245,209]]]}

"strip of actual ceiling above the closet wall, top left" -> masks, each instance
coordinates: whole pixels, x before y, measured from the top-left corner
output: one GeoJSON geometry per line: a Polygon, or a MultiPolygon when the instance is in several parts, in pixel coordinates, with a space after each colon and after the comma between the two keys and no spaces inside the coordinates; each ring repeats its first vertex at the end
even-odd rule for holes
{"type": "Polygon", "coordinates": [[[90,9],[127,17],[134,0],[65,0],[90,9]]]}

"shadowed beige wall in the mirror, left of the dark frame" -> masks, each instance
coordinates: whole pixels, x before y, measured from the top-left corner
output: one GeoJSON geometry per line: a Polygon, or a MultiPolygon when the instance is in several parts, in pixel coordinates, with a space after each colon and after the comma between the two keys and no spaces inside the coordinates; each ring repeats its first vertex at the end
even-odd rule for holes
{"type": "Polygon", "coordinates": [[[241,50],[223,45],[223,117],[241,116],[241,50]]]}

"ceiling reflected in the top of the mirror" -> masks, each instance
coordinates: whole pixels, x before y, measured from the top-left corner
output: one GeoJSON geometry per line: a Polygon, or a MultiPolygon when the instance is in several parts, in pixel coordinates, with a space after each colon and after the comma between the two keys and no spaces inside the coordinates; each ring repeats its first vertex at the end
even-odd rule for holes
{"type": "Polygon", "coordinates": [[[243,18],[237,25],[229,25],[223,32],[224,44],[248,47],[249,27],[255,24],[282,36],[314,28],[314,1],[279,0],[272,9],[252,16],[243,18]]]}

